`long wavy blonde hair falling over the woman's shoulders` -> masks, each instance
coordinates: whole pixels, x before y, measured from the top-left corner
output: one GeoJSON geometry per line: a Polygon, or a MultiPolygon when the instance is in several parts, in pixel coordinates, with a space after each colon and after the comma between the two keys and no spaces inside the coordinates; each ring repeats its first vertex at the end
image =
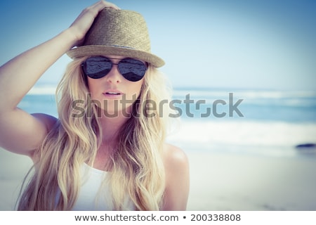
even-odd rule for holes
{"type": "MultiPolygon", "coordinates": [[[[81,184],[80,167],[85,162],[92,165],[96,158],[101,131],[97,106],[82,101],[87,110],[79,117],[74,116],[72,107],[74,101],[87,98],[88,86],[80,69],[84,59],[72,61],[58,84],[59,120],[36,152],[39,160],[28,184],[22,186],[18,210],[71,210],[81,184]]],[[[133,104],[133,115],[138,116],[130,117],[121,127],[105,181],[110,186],[113,210],[126,210],[126,193],[136,210],[159,210],[163,204],[162,151],[169,117],[162,115],[168,108],[159,108],[159,103],[169,100],[166,84],[166,77],[149,65],[133,104]],[[156,106],[150,115],[144,110],[148,100],[156,106]]]]}

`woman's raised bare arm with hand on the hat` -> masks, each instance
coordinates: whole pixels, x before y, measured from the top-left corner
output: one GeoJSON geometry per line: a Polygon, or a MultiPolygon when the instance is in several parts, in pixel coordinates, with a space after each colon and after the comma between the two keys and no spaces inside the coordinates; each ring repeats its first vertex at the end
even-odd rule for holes
{"type": "Polygon", "coordinates": [[[91,27],[98,12],[105,7],[117,8],[105,1],[98,1],[78,16],[72,25],[0,68],[0,146],[14,153],[32,155],[51,129],[55,118],[36,114],[29,115],[17,108],[18,103],[34,86],[39,77],[58,58],[78,46],[91,27]]]}

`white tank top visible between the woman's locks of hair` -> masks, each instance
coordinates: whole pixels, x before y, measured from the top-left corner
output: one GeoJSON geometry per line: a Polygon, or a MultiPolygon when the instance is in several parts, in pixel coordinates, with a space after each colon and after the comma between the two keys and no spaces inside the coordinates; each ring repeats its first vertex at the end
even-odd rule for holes
{"type": "MultiPolygon", "coordinates": [[[[77,202],[72,210],[76,211],[111,211],[112,200],[109,195],[107,186],[102,186],[105,176],[108,172],[89,167],[84,164],[81,168],[81,188],[77,202]]],[[[135,210],[135,206],[131,200],[126,200],[124,210],[135,210]]]]}

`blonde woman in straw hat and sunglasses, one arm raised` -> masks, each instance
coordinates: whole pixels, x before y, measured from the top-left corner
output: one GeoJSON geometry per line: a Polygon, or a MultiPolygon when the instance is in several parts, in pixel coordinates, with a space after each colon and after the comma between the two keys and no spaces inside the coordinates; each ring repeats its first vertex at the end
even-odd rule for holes
{"type": "Polygon", "coordinates": [[[165,143],[162,65],[143,17],[105,1],[2,65],[0,146],[34,162],[17,209],[185,210],[188,162],[165,143]],[[65,53],[58,118],[18,108],[65,53]]]}

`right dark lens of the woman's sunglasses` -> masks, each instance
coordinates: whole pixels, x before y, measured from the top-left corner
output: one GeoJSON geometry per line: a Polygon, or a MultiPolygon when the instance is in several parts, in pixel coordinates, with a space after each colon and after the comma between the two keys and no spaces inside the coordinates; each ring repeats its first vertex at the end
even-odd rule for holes
{"type": "Polygon", "coordinates": [[[119,72],[131,82],[138,82],[145,75],[147,68],[145,64],[133,58],[124,58],[119,62],[119,72]]]}

